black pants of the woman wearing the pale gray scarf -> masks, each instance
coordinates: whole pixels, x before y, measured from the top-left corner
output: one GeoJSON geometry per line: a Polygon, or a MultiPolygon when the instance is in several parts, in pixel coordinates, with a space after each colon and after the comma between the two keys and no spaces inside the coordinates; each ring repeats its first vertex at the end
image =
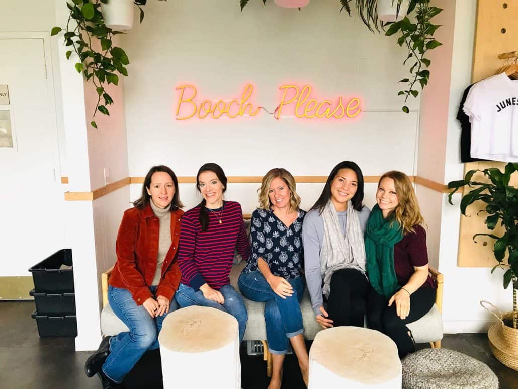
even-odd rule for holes
{"type": "Polygon", "coordinates": [[[333,273],[329,285],[327,313],[333,325],[363,327],[365,298],[369,282],[362,272],[340,269],[333,273]]]}

